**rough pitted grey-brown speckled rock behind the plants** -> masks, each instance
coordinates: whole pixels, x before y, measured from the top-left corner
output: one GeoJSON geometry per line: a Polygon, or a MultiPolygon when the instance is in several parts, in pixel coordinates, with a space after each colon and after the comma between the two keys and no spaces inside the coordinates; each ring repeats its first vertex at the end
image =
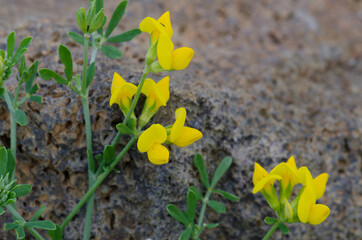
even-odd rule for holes
{"type": "MultiPolygon", "coordinates": [[[[105,1],[106,13],[117,1],[105,1]]],[[[67,45],[81,72],[82,49],[67,37],[77,31],[75,12],[87,1],[0,0],[0,48],[6,36],[34,37],[27,61],[63,72],[57,56],[67,45]],[[6,3],[5,3],[6,2],[6,3]],[[6,7],[5,7],[6,6],[6,7]]],[[[172,124],[174,110],[187,109],[187,125],[204,138],[192,146],[171,146],[170,163],[152,165],[133,147],[97,190],[92,239],[178,239],[181,224],[167,204],[185,207],[188,186],[201,188],[192,159],[203,154],[210,174],[225,156],[233,164],[219,184],[240,196],[227,213],[209,210],[207,221],[220,227],[201,239],[261,239],[264,217],[274,216],[261,194],[251,193],[254,162],[267,170],[294,155],[313,176],[329,173],[323,204],[329,218],[318,226],[293,224],[290,234],[273,239],[362,239],[362,2],[354,0],[188,0],[130,1],[117,32],[135,28],[146,16],[169,10],[177,47],[195,49],[185,71],[170,73],[171,97],[154,122],[172,124]]],[[[17,38],[19,41],[19,38],[17,38]]],[[[113,72],[137,84],[148,43],[142,34],[117,45],[121,60],[99,54],[90,91],[94,151],[100,153],[122,121],[109,106],[113,72]]],[[[153,75],[159,80],[163,75],[153,75]]],[[[6,82],[13,89],[14,76],[6,82]]],[[[18,128],[20,183],[33,185],[19,199],[29,218],[46,205],[44,219],[60,224],[87,190],[85,128],[81,101],[69,88],[37,78],[44,103],[27,103],[30,123],[18,128]]],[[[143,99],[141,99],[142,101],[143,99]]],[[[9,147],[9,114],[0,101],[0,143],[9,147]]],[[[117,148],[125,145],[123,138],[117,148]]],[[[217,199],[217,198],[216,198],[217,199]]],[[[65,230],[81,239],[85,209],[65,230]]],[[[0,217],[0,224],[10,220],[0,217]]],[[[0,239],[14,239],[0,233],[0,239]]],[[[31,237],[29,237],[31,239],[31,237]]]]}

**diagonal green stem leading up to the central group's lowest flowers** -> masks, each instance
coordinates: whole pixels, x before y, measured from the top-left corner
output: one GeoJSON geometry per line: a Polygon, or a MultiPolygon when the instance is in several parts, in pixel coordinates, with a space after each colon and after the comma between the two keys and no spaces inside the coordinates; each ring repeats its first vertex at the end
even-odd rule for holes
{"type": "Polygon", "coordinates": [[[103,180],[113,171],[118,162],[122,159],[122,157],[126,154],[126,152],[132,147],[132,145],[136,142],[137,138],[132,137],[132,139],[128,142],[128,144],[123,148],[123,150],[118,154],[115,161],[107,168],[107,170],[100,175],[100,177],[95,181],[92,187],[88,190],[88,192],[82,197],[82,199],[78,202],[72,212],[67,216],[64,220],[60,228],[63,230],[67,224],[73,219],[73,217],[77,214],[79,209],[84,205],[84,203],[90,198],[98,186],[103,182],[103,180]]]}

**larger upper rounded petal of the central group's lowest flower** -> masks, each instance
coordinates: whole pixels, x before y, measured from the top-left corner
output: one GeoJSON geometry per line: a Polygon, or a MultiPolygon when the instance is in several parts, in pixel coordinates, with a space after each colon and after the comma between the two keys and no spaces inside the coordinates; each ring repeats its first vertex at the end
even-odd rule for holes
{"type": "Polygon", "coordinates": [[[140,152],[147,152],[154,144],[160,144],[167,139],[166,129],[160,124],[152,124],[144,131],[137,141],[137,148],[140,152]]]}

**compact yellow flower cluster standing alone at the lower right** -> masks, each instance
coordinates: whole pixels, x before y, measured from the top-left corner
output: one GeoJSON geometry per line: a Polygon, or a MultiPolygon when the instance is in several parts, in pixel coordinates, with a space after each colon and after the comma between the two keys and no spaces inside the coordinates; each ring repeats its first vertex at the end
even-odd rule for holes
{"type": "Polygon", "coordinates": [[[327,173],[322,173],[313,179],[307,167],[297,168],[292,156],[286,163],[283,162],[274,167],[270,173],[255,163],[253,193],[263,194],[280,221],[317,225],[322,223],[330,213],[328,206],[316,204],[316,201],[324,194],[327,181],[327,173]],[[274,188],[276,180],[280,182],[279,198],[274,188]],[[293,187],[297,184],[301,184],[302,188],[289,202],[293,187]]]}

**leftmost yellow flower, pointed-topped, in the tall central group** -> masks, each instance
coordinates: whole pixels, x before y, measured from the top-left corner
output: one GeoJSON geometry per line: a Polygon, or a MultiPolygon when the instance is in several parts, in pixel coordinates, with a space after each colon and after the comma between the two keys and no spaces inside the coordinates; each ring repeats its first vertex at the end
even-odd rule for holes
{"type": "Polygon", "coordinates": [[[132,83],[126,82],[118,73],[114,73],[112,87],[111,87],[111,99],[109,105],[112,106],[117,103],[123,112],[126,112],[131,106],[132,97],[137,92],[137,87],[132,83]]]}

